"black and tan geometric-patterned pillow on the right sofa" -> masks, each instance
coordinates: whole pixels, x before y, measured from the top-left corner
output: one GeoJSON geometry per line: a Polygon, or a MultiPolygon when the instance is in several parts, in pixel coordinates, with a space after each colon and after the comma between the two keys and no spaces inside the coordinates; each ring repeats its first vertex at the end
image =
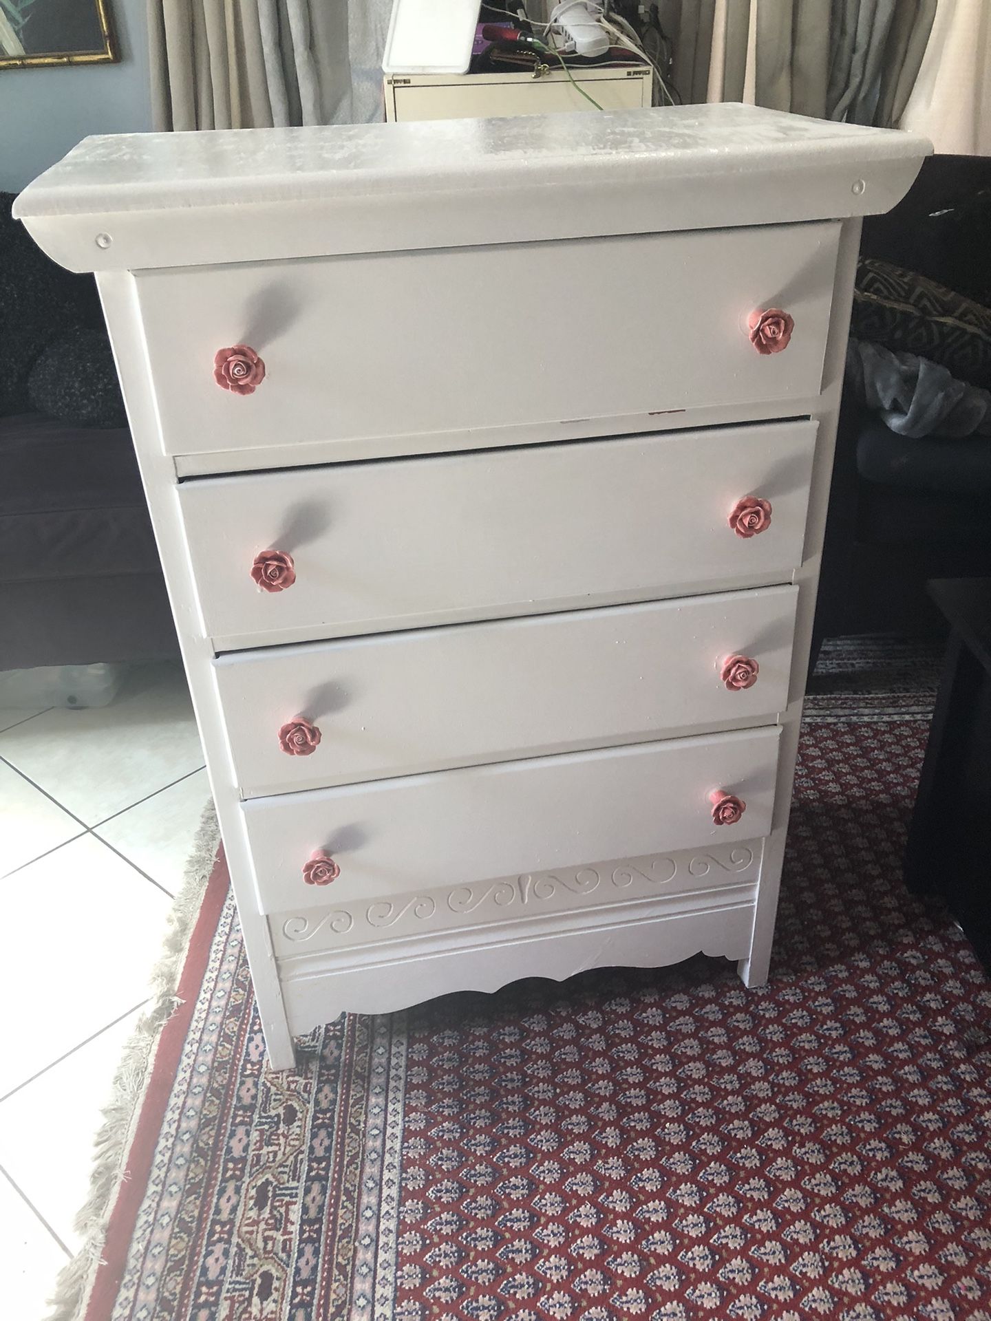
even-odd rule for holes
{"type": "Polygon", "coordinates": [[[991,387],[991,308],[914,271],[862,258],[850,333],[896,353],[929,358],[961,380],[991,387]]]}

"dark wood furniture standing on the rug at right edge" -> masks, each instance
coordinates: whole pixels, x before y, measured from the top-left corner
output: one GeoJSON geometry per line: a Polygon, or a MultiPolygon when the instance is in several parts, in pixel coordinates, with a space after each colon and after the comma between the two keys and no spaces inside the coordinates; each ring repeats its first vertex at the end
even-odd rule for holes
{"type": "Polygon", "coordinates": [[[939,894],[991,971],[991,579],[929,592],[950,626],[905,855],[905,882],[939,894]]]}

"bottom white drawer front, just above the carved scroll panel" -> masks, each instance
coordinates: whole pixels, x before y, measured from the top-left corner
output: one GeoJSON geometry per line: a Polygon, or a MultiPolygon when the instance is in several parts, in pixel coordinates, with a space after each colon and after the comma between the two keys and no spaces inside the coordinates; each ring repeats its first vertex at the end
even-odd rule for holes
{"type": "Polygon", "coordinates": [[[472,766],[242,804],[260,911],[465,885],[770,830],[780,729],[472,766]],[[714,822],[710,795],[745,803],[714,822]],[[304,867],[325,851],[326,885],[304,867]]]}

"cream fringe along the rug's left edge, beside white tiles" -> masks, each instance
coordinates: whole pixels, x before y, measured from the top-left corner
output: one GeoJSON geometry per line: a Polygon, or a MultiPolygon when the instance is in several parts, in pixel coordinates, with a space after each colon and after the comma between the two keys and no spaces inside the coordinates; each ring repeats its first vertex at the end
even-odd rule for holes
{"type": "Polygon", "coordinates": [[[81,1321],[100,1264],[110,1215],[126,1177],[133,1129],[151,1078],[155,1046],[161,1029],[182,1003],[176,995],[189,941],[202,906],[221,841],[213,803],[203,811],[182,885],[168,917],[163,952],[151,976],[152,993],[114,1075],[112,1094],[103,1108],[103,1124],[94,1139],[90,1192],[75,1218],[83,1246],[59,1272],[45,1321],[81,1321]]]}

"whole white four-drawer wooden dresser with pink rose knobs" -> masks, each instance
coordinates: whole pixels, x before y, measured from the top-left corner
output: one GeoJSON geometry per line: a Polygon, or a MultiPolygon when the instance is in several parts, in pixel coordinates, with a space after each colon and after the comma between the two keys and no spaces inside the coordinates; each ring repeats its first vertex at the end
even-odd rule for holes
{"type": "Polygon", "coordinates": [[[96,272],[275,1067],[765,980],[860,217],[928,151],[692,106],[94,137],[21,194],[96,272]]]}

